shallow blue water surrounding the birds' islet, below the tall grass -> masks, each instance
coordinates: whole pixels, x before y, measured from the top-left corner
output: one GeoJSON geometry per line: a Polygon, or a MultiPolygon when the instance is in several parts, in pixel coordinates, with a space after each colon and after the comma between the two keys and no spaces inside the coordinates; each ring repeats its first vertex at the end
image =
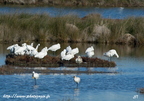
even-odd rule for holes
{"type": "MultiPolygon", "coordinates": [[[[50,46],[51,44],[45,44],[50,46]]],[[[63,44],[65,48],[68,44],[63,44]]],[[[40,74],[37,85],[31,74],[0,75],[0,100],[3,101],[143,101],[144,94],[137,90],[144,87],[144,48],[116,45],[71,44],[80,49],[79,55],[85,55],[88,46],[95,48],[95,57],[107,59],[102,53],[109,49],[116,49],[120,58],[113,58],[115,68],[91,68],[91,70],[117,71],[118,74],[40,74]],[[73,76],[81,78],[79,87],[73,82],[73,76]]],[[[6,47],[0,50],[0,63],[4,63],[8,53],[6,47]]],[[[63,49],[61,49],[63,50],[63,49]]],[[[59,54],[60,51],[57,52],[59,54]]],[[[50,53],[49,53],[50,54],[50,53]]],[[[65,69],[70,69],[65,67],[65,69]]],[[[81,67],[84,70],[83,67],[81,67]]],[[[39,72],[40,73],[40,72],[39,72]]]]}

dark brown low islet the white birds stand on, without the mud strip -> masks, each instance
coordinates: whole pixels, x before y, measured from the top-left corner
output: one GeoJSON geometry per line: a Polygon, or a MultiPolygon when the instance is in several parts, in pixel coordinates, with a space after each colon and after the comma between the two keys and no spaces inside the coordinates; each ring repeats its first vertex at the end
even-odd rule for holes
{"type": "Polygon", "coordinates": [[[11,66],[20,67],[115,67],[113,61],[102,60],[99,58],[82,57],[83,63],[77,64],[75,62],[76,56],[70,61],[61,60],[60,56],[45,56],[43,59],[35,58],[33,56],[23,55],[7,55],[5,63],[11,66]]]}

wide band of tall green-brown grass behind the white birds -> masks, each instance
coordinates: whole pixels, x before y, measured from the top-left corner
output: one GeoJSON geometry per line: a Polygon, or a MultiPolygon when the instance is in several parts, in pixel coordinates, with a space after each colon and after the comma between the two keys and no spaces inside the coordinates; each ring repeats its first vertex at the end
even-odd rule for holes
{"type": "Polygon", "coordinates": [[[104,19],[98,14],[90,14],[84,18],[79,18],[77,15],[50,17],[46,14],[9,14],[0,16],[0,41],[115,43],[120,37],[129,33],[138,43],[144,43],[143,26],[143,17],[120,20],[104,19]],[[106,29],[110,31],[109,34],[106,34],[106,29]]]}

